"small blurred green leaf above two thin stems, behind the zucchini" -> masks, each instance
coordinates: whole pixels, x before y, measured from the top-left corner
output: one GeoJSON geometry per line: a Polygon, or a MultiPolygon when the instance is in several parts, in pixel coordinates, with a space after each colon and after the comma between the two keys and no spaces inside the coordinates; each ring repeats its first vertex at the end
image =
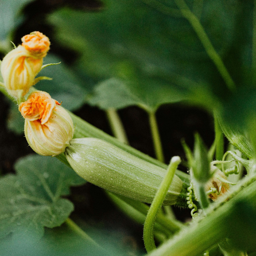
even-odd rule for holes
{"type": "Polygon", "coordinates": [[[161,104],[184,99],[169,86],[148,81],[147,86],[131,85],[129,82],[110,78],[96,85],[88,102],[102,109],[120,109],[137,105],[155,111],[161,104]]]}

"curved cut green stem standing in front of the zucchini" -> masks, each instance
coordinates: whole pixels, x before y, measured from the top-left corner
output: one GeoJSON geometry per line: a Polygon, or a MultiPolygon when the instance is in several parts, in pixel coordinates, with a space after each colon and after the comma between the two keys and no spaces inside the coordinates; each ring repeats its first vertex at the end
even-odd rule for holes
{"type": "MultiPolygon", "coordinates": [[[[167,194],[167,191],[174,177],[174,173],[178,165],[180,164],[180,162],[181,160],[180,160],[180,157],[178,156],[174,156],[171,158],[166,176],[162,180],[160,187],[157,190],[154,200],[147,213],[147,217],[144,224],[144,230],[143,230],[143,239],[144,239],[144,244],[147,252],[150,252],[156,248],[155,241],[154,241],[154,234],[153,234],[154,223],[156,220],[157,213],[162,205],[162,202],[164,202],[165,196],[167,194]]],[[[177,226],[177,230],[179,230],[178,226],[177,226]]]]}

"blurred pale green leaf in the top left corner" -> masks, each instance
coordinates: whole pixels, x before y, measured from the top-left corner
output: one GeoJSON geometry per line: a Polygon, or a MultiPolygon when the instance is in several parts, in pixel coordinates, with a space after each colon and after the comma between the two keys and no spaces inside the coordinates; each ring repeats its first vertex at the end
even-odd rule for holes
{"type": "Polygon", "coordinates": [[[0,51],[8,51],[13,45],[8,40],[11,32],[22,21],[21,10],[33,0],[0,0],[0,51]]]}

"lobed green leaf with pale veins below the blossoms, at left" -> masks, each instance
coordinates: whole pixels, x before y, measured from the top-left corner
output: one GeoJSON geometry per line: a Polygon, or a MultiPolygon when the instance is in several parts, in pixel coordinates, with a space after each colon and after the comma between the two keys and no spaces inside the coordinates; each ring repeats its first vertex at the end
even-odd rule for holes
{"type": "Polygon", "coordinates": [[[20,159],[15,169],[0,179],[0,237],[33,234],[40,238],[43,227],[60,226],[74,206],[62,195],[69,186],[85,181],[55,158],[31,155],[20,159]]]}

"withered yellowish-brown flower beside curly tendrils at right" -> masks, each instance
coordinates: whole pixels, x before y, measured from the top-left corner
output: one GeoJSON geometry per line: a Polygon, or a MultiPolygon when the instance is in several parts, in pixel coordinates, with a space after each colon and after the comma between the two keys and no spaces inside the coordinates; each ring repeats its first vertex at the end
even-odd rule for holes
{"type": "Polygon", "coordinates": [[[226,175],[220,171],[217,167],[214,172],[213,177],[206,183],[205,189],[209,191],[208,197],[213,201],[226,193],[229,189],[229,184],[225,183],[224,180],[227,179],[226,175]],[[212,191],[212,193],[210,193],[212,191]]]}

